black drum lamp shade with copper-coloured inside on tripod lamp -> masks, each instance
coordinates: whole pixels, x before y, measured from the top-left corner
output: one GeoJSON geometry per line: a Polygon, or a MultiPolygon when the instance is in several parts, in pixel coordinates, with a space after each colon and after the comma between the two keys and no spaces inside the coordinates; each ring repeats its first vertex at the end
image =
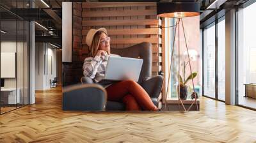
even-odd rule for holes
{"type": "Polygon", "coordinates": [[[194,17],[200,15],[200,5],[196,2],[159,2],[157,16],[159,17],[194,17]]]}

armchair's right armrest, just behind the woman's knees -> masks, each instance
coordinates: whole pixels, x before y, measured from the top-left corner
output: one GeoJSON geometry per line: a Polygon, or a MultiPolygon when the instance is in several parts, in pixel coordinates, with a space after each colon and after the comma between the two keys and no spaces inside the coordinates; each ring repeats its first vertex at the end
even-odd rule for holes
{"type": "Polygon", "coordinates": [[[151,98],[158,98],[163,87],[164,78],[161,75],[150,77],[141,83],[151,98]]]}

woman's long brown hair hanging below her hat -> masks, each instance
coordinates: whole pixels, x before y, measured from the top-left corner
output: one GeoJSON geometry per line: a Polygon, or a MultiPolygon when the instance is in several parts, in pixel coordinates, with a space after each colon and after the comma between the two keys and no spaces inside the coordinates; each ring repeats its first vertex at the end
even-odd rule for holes
{"type": "MultiPolygon", "coordinates": [[[[90,56],[91,57],[95,57],[97,54],[97,51],[99,49],[99,45],[100,45],[100,34],[104,33],[104,31],[98,31],[97,33],[95,33],[95,35],[93,36],[93,40],[92,40],[92,45],[90,47],[90,56]]],[[[107,33],[105,33],[106,35],[108,35],[107,33]]]]}

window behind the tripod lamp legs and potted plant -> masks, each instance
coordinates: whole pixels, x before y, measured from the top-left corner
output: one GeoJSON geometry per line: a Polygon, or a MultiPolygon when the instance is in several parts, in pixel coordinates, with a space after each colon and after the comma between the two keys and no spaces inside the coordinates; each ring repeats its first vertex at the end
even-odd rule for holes
{"type": "MultiPolygon", "coordinates": [[[[173,26],[175,25],[177,19],[166,19],[166,26],[173,26]]],[[[200,53],[201,53],[201,48],[200,48],[200,29],[199,29],[199,16],[198,17],[186,17],[183,20],[184,23],[184,30],[186,34],[186,41],[188,43],[188,50],[189,50],[189,56],[190,56],[190,61],[191,61],[191,70],[192,72],[197,72],[198,74],[196,75],[194,79],[194,84],[195,84],[195,91],[200,94],[202,90],[202,81],[200,80],[200,77],[202,75],[202,59],[200,59],[200,53]],[[195,28],[198,27],[198,28],[195,28]]],[[[172,46],[173,46],[173,36],[175,32],[175,27],[170,27],[164,29],[166,33],[166,49],[165,49],[165,62],[166,62],[166,69],[170,69],[170,62],[171,62],[171,56],[172,56],[172,46]]],[[[178,51],[178,27],[177,27],[177,32],[176,32],[176,37],[175,37],[175,45],[173,49],[173,61],[172,61],[172,72],[170,75],[170,88],[169,88],[169,94],[167,97],[167,100],[178,100],[177,97],[177,86],[178,84],[178,70],[179,70],[179,51],[178,51]]],[[[182,25],[180,22],[180,75],[182,75],[182,78],[185,79],[190,75],[190,69],[189,69],[189,64],[187,64],[185,68],[185,74],[184,74],[184,63],[188,63],[188,53],[186,50],[186,43],[184,40],[184,34],[183,34],[183,29],[182,25]]],[[[165,73],[168,70],[166,70],[165,73]]],[[[167,82],[168,82],[168,74],[165,75],[166,77],[166,88],[167,88],[167,82]]],[[[193,91],[193,84],[192,81],[190,80],[187,84],[188,86],[188,97],[187,100],[191,99],[190,93],[193,91]]]]}

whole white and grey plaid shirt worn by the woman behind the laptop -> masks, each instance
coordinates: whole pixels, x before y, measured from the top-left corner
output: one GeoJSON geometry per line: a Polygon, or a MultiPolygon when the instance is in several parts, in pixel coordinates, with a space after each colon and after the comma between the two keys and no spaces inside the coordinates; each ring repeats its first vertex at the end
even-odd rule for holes
{"type": "MultiPolygon", "coordinates": [[[[110,56],[118,56],[115,54],[110,54],[110,56]]],[[[93,57],[86,57],[84,59],[83,64],[83,74],[85,77],[90,77],[91,79],[95,79],[96,82],[104,79],[104,75],[106,72],[106,66],[108,64],[108,57],[106,56],[95,56],[93,57]]],[[[120,57],[120,56],[118,56],[120,57]]]]}

